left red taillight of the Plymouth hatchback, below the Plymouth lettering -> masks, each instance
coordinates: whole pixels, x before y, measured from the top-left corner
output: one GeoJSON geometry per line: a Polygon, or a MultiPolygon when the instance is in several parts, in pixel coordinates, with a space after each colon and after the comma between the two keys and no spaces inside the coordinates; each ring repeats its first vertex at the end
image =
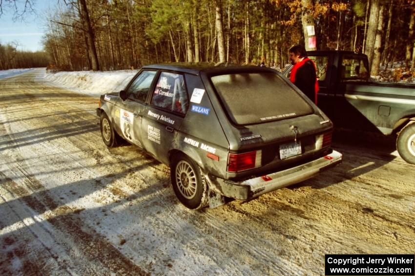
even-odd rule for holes
{"type": "Polygon", "coordinates": [[[261,166],[262,151],[255,150],[245,153],[229,153],[228,172],[238,172],[261,166]]]}

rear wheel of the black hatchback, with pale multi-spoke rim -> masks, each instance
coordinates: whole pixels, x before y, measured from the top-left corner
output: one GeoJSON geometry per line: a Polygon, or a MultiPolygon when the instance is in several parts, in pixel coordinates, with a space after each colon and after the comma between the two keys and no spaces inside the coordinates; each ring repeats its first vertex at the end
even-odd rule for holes
{"type": "Polygon", "coordinates": [[[197,164],[184,154],[173,157],[170,178],[176,197],[189,209],[207,206],[207,183],[197,164]]]}

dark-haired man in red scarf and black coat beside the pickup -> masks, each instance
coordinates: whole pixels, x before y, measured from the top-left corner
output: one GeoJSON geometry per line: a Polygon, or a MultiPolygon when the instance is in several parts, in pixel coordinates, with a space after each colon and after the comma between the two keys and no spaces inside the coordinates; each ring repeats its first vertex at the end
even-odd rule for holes
{"type": "Polygon", "coordinates": [[[291,64],[294,65],[291,82],[317,104],[318,82],[314,62],[307,57],[306,49],[301,45],[291,47],[289,52],[291,64]]]}

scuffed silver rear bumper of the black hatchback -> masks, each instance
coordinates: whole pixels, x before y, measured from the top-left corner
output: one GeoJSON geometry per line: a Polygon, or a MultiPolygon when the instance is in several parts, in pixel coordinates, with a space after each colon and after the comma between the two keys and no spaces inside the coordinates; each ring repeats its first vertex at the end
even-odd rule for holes
{"type": "Polygon", "coordinates": [[[341,162],[342,154],[333,150],[331,154],[306,164],[242,182],[233,182],[212,176],[206,176],[206,179],[210,188],[226,197],[249,200],[273,190],[307,180],[341,162]]]}

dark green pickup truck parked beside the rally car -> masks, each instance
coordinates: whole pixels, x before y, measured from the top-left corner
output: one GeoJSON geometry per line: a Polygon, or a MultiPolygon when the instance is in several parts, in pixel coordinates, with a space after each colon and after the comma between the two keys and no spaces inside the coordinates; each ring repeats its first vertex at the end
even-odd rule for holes
{"type": "MultiPolygon", "coordinates": [[[[350,51],[308,55],[317,69],[317,105],[334,126],[397,134],[400,156],[415,164],[415,84],[370,81],[367,55],[350,51]]],[[[290,75],[290,67],[285,76],[290,75]]]]}

